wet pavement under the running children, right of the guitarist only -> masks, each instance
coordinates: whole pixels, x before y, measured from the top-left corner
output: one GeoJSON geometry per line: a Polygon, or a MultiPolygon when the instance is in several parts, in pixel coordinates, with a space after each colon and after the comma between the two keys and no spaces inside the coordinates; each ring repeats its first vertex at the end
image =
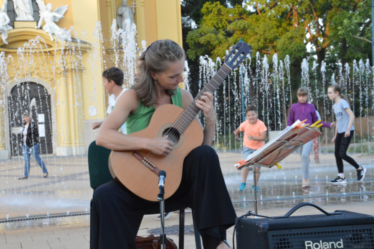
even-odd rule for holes
{"type": "MultiPolygon", "coordinates": [[[[356,169],[348,165],[345,168],[347,184],[333,185],[330,181],[337,176],[335,158],[332,154],[320,155],[324,159],[321,164],[311,161],[310,188],[302,189],[302,171],[300,157],[292,154],[283,161],[282,169],[276,167],[262,168],[257,193],[258,209],[275,206],[292,207],[300,202],[319,202],[325,205],[334,203],[365,202],[374,200],[374,163],[372,158],[356,155],[360,165],[367,168],[363,181],[357,181],[356,169]],[[332,160],[333,159],[333,160],[332,160]]],[[[310,156],[311,158],[312,155],[310,156]]],[[[227,160],[228,161],[228,160],[227,160]]],[[[235,171],[224,171],[224,178],[231,200],[236,207],[253,208],[254,193],[252,191],[253,174],[249,172],[247,187],[244,191],[237,188],[241,182],[241,174],[235,171]]]]}

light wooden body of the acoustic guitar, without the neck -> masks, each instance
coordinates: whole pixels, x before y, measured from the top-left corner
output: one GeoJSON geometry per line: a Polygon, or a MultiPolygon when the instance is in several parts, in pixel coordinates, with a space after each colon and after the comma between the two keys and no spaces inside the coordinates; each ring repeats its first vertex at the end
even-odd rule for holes
{"type": "MultiPolygon", "coordinates": [[[[169,138],[176,134],[176,130],[168,131],[185,110],[175,105],[162,105],[156,109],[147,128],[129,134],[129,136],[156,138],[163,137],[169,132],[169,138]]],[[[109,157],[109,169],[113,178],[117,177],[121,183],[137,196],[157,201],[159,190],[158,170],[152,170],[147,164],[151,163],[159,170],[165,170],[165,199],[172,196],[178,189],[183,170],[183,161],[187,154],[201,145],[203,133],[200,124],[195,120],[187,126],[179,137],[174,137],[174,149],[167,156],[150,153],[148,150],[113,150],[109,157]],[[179,138],[179,139],[178,139],[179,138]],[[137,153],[139,152],[139,153],[137,153]],[[146,158],[142,162],[142,157],[146,158]]]]}

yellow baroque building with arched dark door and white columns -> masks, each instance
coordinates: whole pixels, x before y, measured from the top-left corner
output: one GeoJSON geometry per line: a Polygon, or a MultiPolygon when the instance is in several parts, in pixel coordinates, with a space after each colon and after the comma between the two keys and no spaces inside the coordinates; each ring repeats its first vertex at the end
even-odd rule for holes
{"type": "MultiPolygon", "coordinates": [[[[52,3],[53,10],[69,5],[56,24],[73,27],[71,41],[51,41],[35,28],[37,21],[14,20],[11,1],[7,13],[14,28],[8,30],[8,44],[0,39],[0,159],[21,155],[22,114],[29,110],[39,126],[39,153],[85,154],[96,136],[92,123],[106,116],[108,95],[101,73],[115,64],[111,25],[122,0],[42,0],[52,3]],[[36,99],[34,107],[31,99],[36,99]]],[[[38,20],[37,4],[31,1],[38,20]]],[[[180,0],[127,3],[135,9],[139,47],[142,40],[149,45],[158,39],[182,46],[180,0]]]]}

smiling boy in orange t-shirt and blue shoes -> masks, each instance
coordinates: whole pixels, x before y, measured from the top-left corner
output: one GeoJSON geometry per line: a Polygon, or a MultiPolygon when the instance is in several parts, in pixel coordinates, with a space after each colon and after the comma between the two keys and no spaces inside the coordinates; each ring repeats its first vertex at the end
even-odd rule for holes
{"type": "MultiPolygon", "coordinates": [[[[257,108],[253,105],[248,106],[245,109],[245,117],[247,118],[246,121],[239,125],[234,132],[236,138],[238,137],[239,132],[244,130],[244,137],[243,137],[243,153],[244,159],[246,159],[250,154],[255,152],[257,149],[261,148],[265,145],[264,140],[266,139],[266,131],[267,128],[265,124],[258,120],[258,113],[257,108]]],[[[261,167],[255,167],[256,171],[260,171],[261,167]]],[[[248,170],[243,169],[241,171],[241,184],[238,188],[239,191],[243,191],[246,185],[248,170]]],[[[260,174],[256,173],[256,185],[258,183],[258,179],[260,178],[260,174]]],[[[254,192],[254,185],[252,186],[254,192]]],[[[257,186],[257,192],[260,192],[260,189],[257,186]]]]}

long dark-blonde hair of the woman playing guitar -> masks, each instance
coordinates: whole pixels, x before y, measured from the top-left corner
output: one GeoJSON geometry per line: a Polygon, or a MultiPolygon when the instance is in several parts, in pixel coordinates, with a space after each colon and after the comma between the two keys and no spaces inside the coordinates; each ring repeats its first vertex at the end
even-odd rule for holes
{"type": "MultiPolygon", "coordinates": [[[[151,72],[165,72],[173,62],[185,59],[185,50],[178,43],[166,39],[153,42],[138,59],[137,77],[133,88],[136,90],[143,105],[149,107],[157,102],[157,88],[151,72]]],[[[166,91],[169,96],[175,90],[166,91]]]]}

